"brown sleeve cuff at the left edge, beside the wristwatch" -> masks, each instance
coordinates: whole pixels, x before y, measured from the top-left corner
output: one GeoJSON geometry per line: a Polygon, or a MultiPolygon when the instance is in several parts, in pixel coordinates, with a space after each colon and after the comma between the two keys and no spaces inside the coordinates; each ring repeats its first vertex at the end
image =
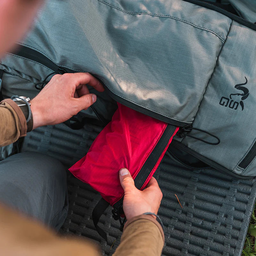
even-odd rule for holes
{"type": "Polygon", "coordinates": [[[0,147],[24,137],[27,131],[26,119],[12,100],[0,103],[0,147]]]}

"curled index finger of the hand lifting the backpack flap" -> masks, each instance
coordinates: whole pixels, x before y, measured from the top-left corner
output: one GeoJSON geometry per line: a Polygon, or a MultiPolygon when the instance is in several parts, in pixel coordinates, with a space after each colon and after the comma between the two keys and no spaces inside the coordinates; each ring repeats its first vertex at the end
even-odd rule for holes
{"type": "Polygon", "coordinates": [[[99,92],[105,90],[100,81],[89,73],[75,73],[71,75],[73,76],[73,79],[76,80],[76,87],[79,87],[81,84],[89,84],[99,92]]]}

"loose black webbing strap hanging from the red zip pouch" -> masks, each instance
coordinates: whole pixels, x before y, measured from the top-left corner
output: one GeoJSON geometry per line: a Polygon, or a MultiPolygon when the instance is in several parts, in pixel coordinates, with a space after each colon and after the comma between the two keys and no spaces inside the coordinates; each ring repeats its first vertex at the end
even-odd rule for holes
{"type": "Polygon", "coordinates": [[[105,210],[108,208],[109,203],[104,200],[103,198],[100,199],[100,201],[98,202],[98,204],[96,204],[96,206],[94,207],[93,211],[92,211],[92,220],[93,220],[93,224],[97,230],[97,232],[99,233],[99,235],[108,242],[108,238],[107,238],[107,234],[106,232],[100,228],[98,226],[98,222],[100,220],[100,216],[105,212],[105,210]]]}

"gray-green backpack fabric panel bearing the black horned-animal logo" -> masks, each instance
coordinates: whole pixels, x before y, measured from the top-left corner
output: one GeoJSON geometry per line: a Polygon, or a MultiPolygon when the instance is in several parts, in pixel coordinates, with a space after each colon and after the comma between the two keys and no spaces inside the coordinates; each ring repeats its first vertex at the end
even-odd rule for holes
{"type": "MultiPolygon", "coordinates": [[[[193,122],[193,127],[218,136],[220,144],[209,145],[189,137],[182,140],[237,174],[244,172],[237,166],[256,139],[256,45],[252,42],[256,42],[256,31],[233,21],[193,122]]],[[[203,132],[192,131],[190,135],[216,142],[203,132]]],[[[248,170],[243,175],[252,174],[248,170]]]]}

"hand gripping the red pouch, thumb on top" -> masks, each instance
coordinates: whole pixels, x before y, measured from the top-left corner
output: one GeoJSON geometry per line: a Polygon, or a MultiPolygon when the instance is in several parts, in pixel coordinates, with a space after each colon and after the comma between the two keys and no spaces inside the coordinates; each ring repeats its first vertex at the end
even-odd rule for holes
{"type": "Polygon", "coordinates": [[[163,194],[154,177],[143,191],[134,186],[134,180],[127,169],[119,171],[119,178],[124,188],[123,209],[127,220],[145,212],[157,214],[163,194]]]}

